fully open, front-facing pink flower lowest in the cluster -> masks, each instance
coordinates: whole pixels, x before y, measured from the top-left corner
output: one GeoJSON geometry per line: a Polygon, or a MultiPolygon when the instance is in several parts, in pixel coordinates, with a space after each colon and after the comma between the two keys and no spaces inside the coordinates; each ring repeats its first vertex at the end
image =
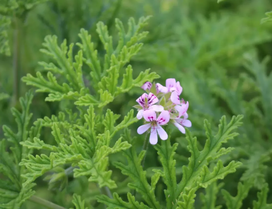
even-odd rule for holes
{"type": "Polygon", "coordinates": [[[170,120],[170,115],[167,110],[163,110],[158,118],[155,111],[146,110],[145,112],[143,112],[143,117],[146,121],[150,123],[141,125],[137,129],[138,134],[143,134],[149,128],[151,128],[150,137],[149,137],[150,144],[156,144],[158,142],[157,132],[162,140],[166,140],[168,138],[166,131],[160,126],[160,125],[164,125],[168,123],[170,120]]]}

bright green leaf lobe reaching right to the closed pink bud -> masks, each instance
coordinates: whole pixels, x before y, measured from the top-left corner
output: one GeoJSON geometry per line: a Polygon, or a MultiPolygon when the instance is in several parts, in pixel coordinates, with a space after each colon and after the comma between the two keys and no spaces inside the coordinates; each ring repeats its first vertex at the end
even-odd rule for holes
{"type": "Polygon", "coordinates": [[[141,87],[146,81],[152,82],[155,79],[160,78],[155,72],[149,73],[150,69],[145,70],[145,72],[140,72],[136,79],[132,78],[132,66],[128,65],[126,68],[126,74],[123,76],[123,82],[120,87],[117,88],[117,93],[128,92],[133,87],[141,87]]]}

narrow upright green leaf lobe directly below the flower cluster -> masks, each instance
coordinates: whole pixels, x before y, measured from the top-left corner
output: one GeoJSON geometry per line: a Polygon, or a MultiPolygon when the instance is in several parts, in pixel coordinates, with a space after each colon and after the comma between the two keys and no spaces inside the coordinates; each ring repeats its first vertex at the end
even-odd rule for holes
{"type": "Polygon", "coordinates": [[[164,191],[166,197],[166,204],[168,208],[171,208],[172,202],[175,201],[177,196],[177,179],[176,179],[176,160],[174,160],[175,151],[178,143],[174,143],[171,146],[170,140],[161,141],[161,145],[156,144],[154,148],[158,151],[160,161],[163,166],[163,181],[167,186],[167,190],[164,191]]]}

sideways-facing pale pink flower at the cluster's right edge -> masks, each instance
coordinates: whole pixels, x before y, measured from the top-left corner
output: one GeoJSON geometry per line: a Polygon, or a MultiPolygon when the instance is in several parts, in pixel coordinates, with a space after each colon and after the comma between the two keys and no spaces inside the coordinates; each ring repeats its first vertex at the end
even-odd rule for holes
{"type": "Polygon", "coordinates": [[[174,119],[173,124],[180,130],[181,133],[185,133],[185,127],[191,127],[192,123],[190,120],[187,120],[188,114],[187,110],[189,107],[189,102],[183,103],[181,106],[175,106],[175,109],[179,112],[179,117],[174,119]],[[183,118],[181,118],[183,116],[183,118]]]}

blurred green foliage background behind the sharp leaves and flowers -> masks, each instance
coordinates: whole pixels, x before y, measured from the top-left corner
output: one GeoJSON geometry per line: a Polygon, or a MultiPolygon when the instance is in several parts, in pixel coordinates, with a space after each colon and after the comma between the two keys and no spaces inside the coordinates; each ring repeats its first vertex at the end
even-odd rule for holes
{"type": "MultiPolygon", "coordinates": [[[[232,115],[243,114],[244,125],[239,128],[240,135],[228,146],[236,149],[224,157],[224,162],[240,160],[243,166],[235,174],[228,175],[224,189],[237,193],[237,182],[251,177],[255,187],[250,190],[242,208],[252,206],[258,188],[266,181],[272,188],[271,148],[272,148],[272,25],[260,24],[265,12],[272,10],[269,0],[51,0],[41,2],[19,19],[12,19],[7,27],[7,37],[11,55],[0,55],[0,125],[9,125],[16,129],[10,107],[18,106],[17,98],[28,87],[20,81],[27,73],[44,71],[39,61],[50,61],[39,52],[46,35],[57,35],[59,43],[67,39],[69,43],[79,41],[77,34],[85,28],[92,35],[98,53],[103,53],[103,45],[95,32],[96,23],[103,21],[109,33],[115,38],[117,32],[114,19],[117,17],[126,25],[129,17],[135,20],[141,16],[152,15],[145,28],[150,33],[143,49],[133,57],[130,64],[133,73],[151,68],[161,76],[157,82],[165,84],[167,78],[175,78],[183,87],[182,98],[189,101],[190,130],[197,136],[199,146],[205,143],[203,120],[207,118],[214,131],[222,115],[230,120],[232,115]],[[14,34],[19,32],[18,43],[14,34]],[[15,55],[17,59],[14,58],[15,55]],[[17,67],[14,68],[14,59],[17,67]]],[[[3,26],[2,26],[3,27],[3,26]]],[[[3,28],[1,28],[3,30],[3,28]]],[[[0,29],[0,31],[1,31],[0,29]]],[[[74,48],[74,54],[78,50],[74,48]]],[[[86,78],[88,79],[88,78],[86,78]]],[[[91,82],[91,81],[90,81],[91,82]]],[[[117,97],[109,108],[124,115],[136,104],[135,100],[143,93],[142,89],[133,89],[127,95],[117,97]]],[[[63,111],[65,102],[44,102],[46,94],[36,93],[31,111],[32,120],[63,111]]],[[[136,114],[136,113],[135,113],[136,114]]],[[[130,127],[132,134],[140,123],[130,127]]],[[[0,137],[3,138],[2,130],[0,137]]],[[[138,137],[139,150],[143,138],[138,137]]],[[[177,150],[177,175],[182,176],[181,166],[187,164],[190,156],[186,150],[185,136],[174,130],[171,141],[179,142],[177,150]]],[[[42,140],[50,143],[52,136],[43,131],[42,140]]],[[[147,174],[153,167],[160,166],[156,151],[150,146],[147,161],[147,174]]],[[[119,155],[111,161],[122,160],[119,155]]],[[[113,166],[113,177],[122,179],[120,172],[113,166]]],[[[86,188],[87,179],[68,178],[69,184],[62,191],[49,191],[47,183],[41,178],[35,188],[37,195],[67,206],[71,194],[77,192],[87,200],[93,200],[99,194],[95,185],[86,188]],[[93,195],[92,195],[93,194],[93,195]],[[68,199],[67,199],[68,198],[68,199]]],[[[158,199],[163,199],[163,186],[157,189],[158,199]]],[[[116,190],[120,195],[128,192],[127,181],[116,190]]],[[[199,192],[202,192],[200,190],[199,192]]],[[[272,192],[268,194],[268,203],[272,202],[272,192]]],[[[222,195],[218,193],[218,204],[224,205],[222,195]]],[[[68,204],[69,205],[69,204],[68,204]]],[[[195,208],[200,208],[199,195],[195,208]]],[[[36,208],[29,204],[27,208],[36,208]]],[[[98,207],[98,206],[97,206],[98,207]]],[[[97,208],[95,207],[95,208],[97,208]]],[[[41,208],[41,207],[40,207],[41,208]]]]}

